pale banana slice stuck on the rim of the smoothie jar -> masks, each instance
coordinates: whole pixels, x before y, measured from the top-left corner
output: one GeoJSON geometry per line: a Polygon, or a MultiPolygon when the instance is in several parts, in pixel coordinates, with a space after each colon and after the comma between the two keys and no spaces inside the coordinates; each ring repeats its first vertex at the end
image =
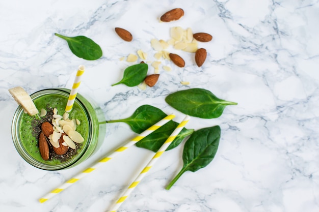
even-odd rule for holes
{"type": "Polygon", "coordinates": [[[9,89],[9,93],[12,95],[14,100],[21,105],[26,113],[29,115],[38,114],[39,111],[36,108],[34,102],[32,101],[31,97],[22,87],[13,87],[9,89]]]}

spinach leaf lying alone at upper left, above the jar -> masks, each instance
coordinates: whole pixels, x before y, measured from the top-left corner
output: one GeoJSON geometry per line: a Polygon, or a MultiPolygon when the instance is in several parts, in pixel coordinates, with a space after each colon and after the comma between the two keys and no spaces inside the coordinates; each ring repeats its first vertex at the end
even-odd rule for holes
{"type": "Polygon", "coordinates": [[[101,47],[90,38],[85,36],[67,37],[57,33],[55,35],[66,40],[72,53],[80,58],[95,60],[102,56],[101,47]]]}

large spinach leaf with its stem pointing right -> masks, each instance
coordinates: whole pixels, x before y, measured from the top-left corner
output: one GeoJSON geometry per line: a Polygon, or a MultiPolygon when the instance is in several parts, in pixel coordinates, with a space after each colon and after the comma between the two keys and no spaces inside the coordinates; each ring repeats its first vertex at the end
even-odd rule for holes
{"type": "Polygon", "coordinates": [[[176,110],[200,118],[217,118],[227,105],[236,105],[217,98],[209,90],[191,88],[180,90],[166,97],[165,101],[176,110]]]}

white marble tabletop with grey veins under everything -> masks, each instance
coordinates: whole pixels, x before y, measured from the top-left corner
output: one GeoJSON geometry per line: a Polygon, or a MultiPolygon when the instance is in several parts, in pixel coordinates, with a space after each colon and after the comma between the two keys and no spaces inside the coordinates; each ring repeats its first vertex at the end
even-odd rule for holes
{"type": "MultiPolygon", "coordinates": [[[[119,211],[289,211],[319,210],[319,3],[314,0],[261,1],[2,1],[0,3],[0,211],[107,211],[152,157],[133,146],[92,175],[47,202],[38,198],[83,170],[136,134],[125,123],[107,125],[98,152],[81,165],[44,171],[26,163],[11,138],[17,104],[8,89],[23,86],[31,94],[42,88],[72,86],[76,69],[86,66],[79,93],[91,96],[106,119],[125,118],[150,104],[177,122],[184,114],[165,102],[177,90],[200,87],[237,102],[215,119],[193,117],[190,129],[219,125],[221,142],[205,168],[187,172],[171,190],[165,186],[182,166],[183,143],[166,152],[121,205],[119,211]],[[159,23],[173,8],[182,19],[159,23]],[[155,60],[153,38],[169,40],[173,26],[207,32],[214,39],[205,64],[180,53],[186,66],[171,62],[154,87],[143,90],[111,86],[132,65],[121,61],[142,49],[155,60]],[[122,41],[114,27],[128,29],[122,41]],[[103,56],[76,57],[62,39],[84,35],[98,43],[103,56]],[[189,81],[182,85],[181,81],[189,81]]],[[[153,73],[150,66],[149,73],[153,73]]]]}

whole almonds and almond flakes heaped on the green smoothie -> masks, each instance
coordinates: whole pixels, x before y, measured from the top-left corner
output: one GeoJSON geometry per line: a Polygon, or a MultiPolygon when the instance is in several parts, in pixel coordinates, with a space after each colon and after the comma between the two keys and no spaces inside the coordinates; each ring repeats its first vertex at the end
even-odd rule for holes
{"type": "Polygon", "coordinates": [[[69,119],[67,112],[63,116],[59,115],[56,108],[54,108],[53,113],[51,123],[44,122],[41,124],[42,132],[39,137],[39,150],[43,160],[49,159],[48,144],[52,146],[57,155],[64,155],[69,148],[76,149],[75,143],[84,142],[83,136],[76,131],[76,126],[81,124],[79,120],[75,118],[69,119]]]}

